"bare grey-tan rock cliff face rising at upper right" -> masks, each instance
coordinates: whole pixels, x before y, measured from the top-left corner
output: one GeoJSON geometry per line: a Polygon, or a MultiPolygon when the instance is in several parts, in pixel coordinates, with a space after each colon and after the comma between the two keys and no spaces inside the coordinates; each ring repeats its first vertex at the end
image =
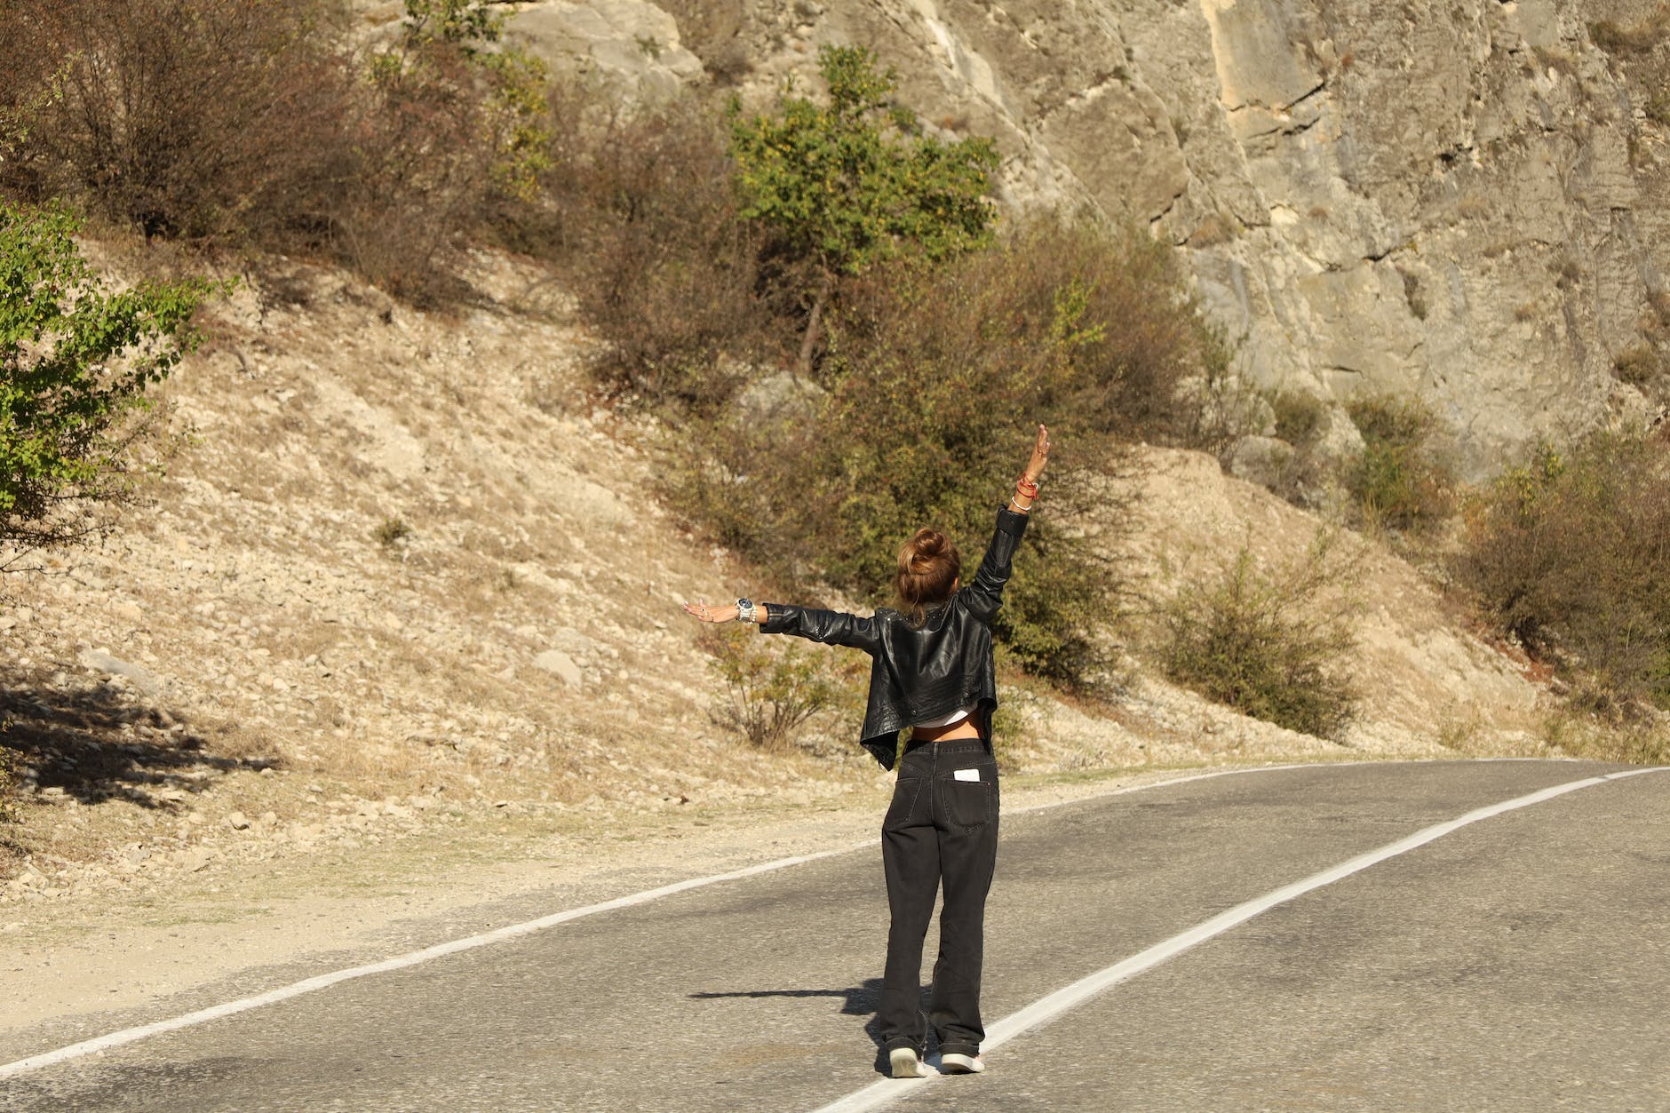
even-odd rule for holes
{"type": "Polygon", "coordinates": [[[548,57],[640,95],[675,75],[763,102],[815,80],[818,45],[870,45],[930,125],[997,137],[1012,206],[1179,244],[1247,379],[1418,393],[1471,475],[1657,411],[1670,18],[1648,0],[519,7],[548,57]]]}

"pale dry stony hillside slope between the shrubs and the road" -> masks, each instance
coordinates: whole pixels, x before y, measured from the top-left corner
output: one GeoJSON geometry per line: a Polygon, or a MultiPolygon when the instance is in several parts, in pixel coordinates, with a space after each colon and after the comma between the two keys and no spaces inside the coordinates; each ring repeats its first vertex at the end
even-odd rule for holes
{"type": "MultiPolygon", "coordinates": [[[[245,284],[167,384],[185,436],[145,505],[105,545],[7,577],[0,719],[23,822],[0,827],[0,899],[504,814],[584,827],[877,785],[853,707],[787,754],[723,725],[730,697],[678,603],[748,585],[655,500],[676,431],[593,406],[591,341],[548,274],[484,256],[471,279],[453,316],[331,271],[245,284]]],[[[1149,465],[1129,556],[1151,600],[1244,543],[1279,563],[1316,528],[1209,456],[1149,465]]],[[[1343,742],[1132,658],[1102,700],[1005,682],[1009,772],[1535,750],[1521,668],[1359,550],[1366,707],[1343,742]]]]}

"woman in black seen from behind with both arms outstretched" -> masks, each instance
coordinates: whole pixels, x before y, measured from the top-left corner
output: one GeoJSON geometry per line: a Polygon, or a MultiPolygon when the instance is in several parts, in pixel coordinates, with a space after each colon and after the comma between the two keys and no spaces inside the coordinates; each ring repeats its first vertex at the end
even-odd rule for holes
{"type": "Polygon", "coordinates": [[[882,1048],[893,1078],[927,1076],[927,1023],[939,1034],[947,1073],[985,1070],[980,1060],[980,958],[985,894],[997,862],[997,762],[992,757],[992,617],[1002,605],[1015,545],[1049,461],[1040,424],[1032,460],[974,583],[962,587],[957,546],[939,530],[917,530],[898,551],[897,610],[870,618],[785,603],[706,607],[685,603],[701,622],[757,622],[765,633],[793,633],[870,653],[863,747],[892,769],[898,732],[910,729],[893,802],[882,822],[882,866],[892,926],[882,978],[882,1048]],[[960,590],[959,590],[960,588],[960,590]],[[917,1008],[922,938],[944,884],[940,953],[929,1016],[917,1008]]]}

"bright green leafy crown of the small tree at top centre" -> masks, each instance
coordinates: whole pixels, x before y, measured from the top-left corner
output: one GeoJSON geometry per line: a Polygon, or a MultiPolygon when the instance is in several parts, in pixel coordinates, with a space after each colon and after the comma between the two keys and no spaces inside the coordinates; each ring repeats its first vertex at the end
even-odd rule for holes
{"type": "Polygon", "coordinates": [[[785,95],[778,115],[731,124],[741,216],[825,272],[857,274],[902,251],[945,259],[990,237],[995,147],[924,135],[875,62],[863,47],[823,47],[827,104],[785,95]]]}

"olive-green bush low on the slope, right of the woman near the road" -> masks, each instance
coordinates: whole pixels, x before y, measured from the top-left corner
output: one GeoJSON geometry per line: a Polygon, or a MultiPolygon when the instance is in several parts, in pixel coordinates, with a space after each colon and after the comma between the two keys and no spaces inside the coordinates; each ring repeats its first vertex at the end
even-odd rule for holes
{"type": "Polygon", "coordinates": [[[1242,545],[1216,578],[1186,583],[1166,607],[1166,673],[1256,719],[1338,739],[1358,700],[1341,667],[1354,647],[1351,585],[1328,533],[1273,573],[1242,545]]]}

